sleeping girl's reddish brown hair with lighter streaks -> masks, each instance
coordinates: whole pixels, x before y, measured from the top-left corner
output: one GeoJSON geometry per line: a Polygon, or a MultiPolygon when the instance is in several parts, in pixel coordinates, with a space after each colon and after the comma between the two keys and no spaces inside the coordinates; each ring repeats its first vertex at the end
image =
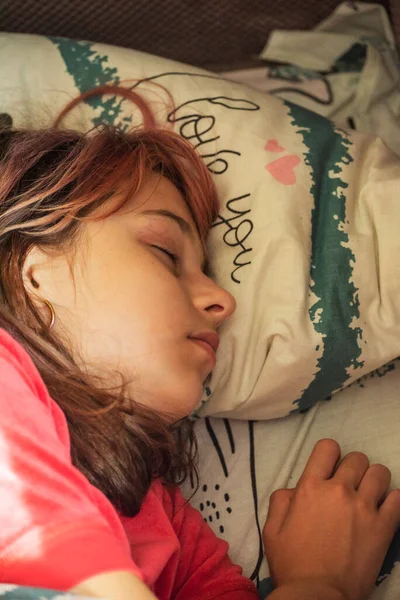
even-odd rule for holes
{"type": "Polygon", "coordinates": [[[73,245],[81,223],[107,205],[121,181],[128,199],[152,172],[182,192],[205,242],[218,210],[211,177],[192,146],[152,117],[130,133],[0,133],[0,326],[30,354],[63,410],[73,463],[126,516],[138,512],[155,477],[180,483],[193,474],[192,426],[187,419],[171,426],[134,398],[127,402],[124,388],[105,391],[82,372],[30,300],[22,269],[33,245],[73,245]]]}

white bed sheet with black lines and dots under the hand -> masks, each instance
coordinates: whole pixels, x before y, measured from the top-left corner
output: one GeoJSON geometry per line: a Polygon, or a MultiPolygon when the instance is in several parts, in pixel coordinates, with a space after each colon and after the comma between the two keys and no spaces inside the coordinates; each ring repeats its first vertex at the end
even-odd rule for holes
{"type": "MultiPolygon", "coordinates": [[[[400,360],[362,378],[320,402],[308,413],[274,421],[201,419],[196,423],[201,448],[200,488],[191,503],[215,533],[227,540],[231,558],[246,576],[270,590],[260,532],[270,494],[296,484],[317,440],[337,440],[343,453],[365,452],[386,464],[392,485],[400,487],[400,360]]],[[[186,497],[193,490],[183,488],[186,497]]],[[[400,595],[400,535],[396,536],[374,600],[400,595]]]]}

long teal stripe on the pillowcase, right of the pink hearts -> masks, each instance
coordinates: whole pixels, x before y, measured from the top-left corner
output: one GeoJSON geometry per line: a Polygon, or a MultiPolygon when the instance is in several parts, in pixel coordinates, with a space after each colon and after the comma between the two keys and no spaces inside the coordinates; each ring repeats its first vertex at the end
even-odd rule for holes
{"type": "Polygon", "coordinates": [[[294,401],[293,412],[304,411],[328,398],[349,379],[347,369],[360,368],[362,330],[352,327],[359,317],[357,288],[352,282],[355,256],[344,231],[346,194],[342,167],[353,159],[351,141],[325,118],[285,102],[298,135],[306,145],[311,168],[314,208],[311,214],[310,291],[318,298],[310,307],[314,329],[322,335],[323,352],[313,381],[294,401]]]}

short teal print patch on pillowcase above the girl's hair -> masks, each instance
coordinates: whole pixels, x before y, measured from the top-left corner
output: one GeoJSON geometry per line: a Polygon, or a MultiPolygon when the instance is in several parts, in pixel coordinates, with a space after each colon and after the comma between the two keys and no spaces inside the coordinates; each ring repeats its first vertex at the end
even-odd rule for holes
{"type": "MultiPolygon", "coordinates": [[[[120,82],[116,67],[108,66],[108,56],[100,54],[93,49],[91,42],[80,42],[66,38],[49,37],[55,44],[65,63],[67,72],[73,77],[74,83],[80,94],[100,85],[117,85],[120,82]]],[[[128,127],[130,117],[125,117],[117,122],[122,112],[123,98],[116,96],[94,96],[85,100],[93,109],[101,109],[97,116],[92,118],[93,125],[106,123],[115,125],[121,130],[128,127]]]]}

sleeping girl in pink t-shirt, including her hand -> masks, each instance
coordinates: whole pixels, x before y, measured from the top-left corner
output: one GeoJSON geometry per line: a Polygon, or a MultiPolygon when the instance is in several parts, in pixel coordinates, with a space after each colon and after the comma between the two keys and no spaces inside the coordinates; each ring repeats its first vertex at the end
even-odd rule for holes
{"type": "MultiPolygon", "coordinates": [[[[182,497],[188,415],[234,298],[208,276],[218,212],[157,127],[0,134],[0,577],[110,600],[251,600],[182,497]]],[[[390,472],[314,448],[271,497],[271,600],[362,600],[400,520],[390,472]]]]}

